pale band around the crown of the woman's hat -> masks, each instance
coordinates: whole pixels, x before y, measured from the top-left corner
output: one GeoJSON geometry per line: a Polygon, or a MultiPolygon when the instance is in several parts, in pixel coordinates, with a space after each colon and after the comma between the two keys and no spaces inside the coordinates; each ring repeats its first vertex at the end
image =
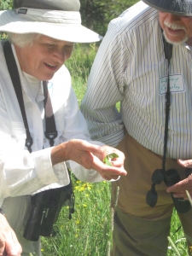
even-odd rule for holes
{"type": "Polygon", "coordinates": [[[49,9],[32,9],[25,7],[15,9],[15,11],[17,15],[25,20],[50,23],[81,24],[81,16],[79,12],[49,9]]]}

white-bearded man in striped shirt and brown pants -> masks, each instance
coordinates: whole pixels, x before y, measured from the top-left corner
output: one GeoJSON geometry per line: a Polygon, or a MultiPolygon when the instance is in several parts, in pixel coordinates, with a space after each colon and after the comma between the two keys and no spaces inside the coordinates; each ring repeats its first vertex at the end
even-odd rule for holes
{"type": "Polygon", "coordinates": [[[166,255],[173,201],[192,243],[192,2],[143,2],[110,22],[81,105],[92,139],[125,153],[115,256],[166,255]]]}

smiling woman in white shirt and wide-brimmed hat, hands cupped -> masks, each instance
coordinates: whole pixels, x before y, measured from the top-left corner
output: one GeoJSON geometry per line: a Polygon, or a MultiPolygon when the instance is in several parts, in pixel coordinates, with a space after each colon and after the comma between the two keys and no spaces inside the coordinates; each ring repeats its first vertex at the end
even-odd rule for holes
{"type": "Polygon", "coordinates": [[[0,13],[0,31],[8,32],[11,43],[0,46],[0,200],[22,255],[40,255],[40,242],[23,237],[30,195],[67,185],[66,162],[76,177],[89,182],[126,172],[124,154],[90,141],[63,65],[74,43],[100,40],[81,26],[79,0],[14,4],[15,10],[0,13]],[[104,157],[113,152],[119,158],[105,165],[104,157]]]}

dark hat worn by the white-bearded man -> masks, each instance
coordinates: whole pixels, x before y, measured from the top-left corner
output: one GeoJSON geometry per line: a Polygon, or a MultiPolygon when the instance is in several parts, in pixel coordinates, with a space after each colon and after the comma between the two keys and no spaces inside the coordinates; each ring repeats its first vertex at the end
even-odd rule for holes
{"type": "Polygon", "coordinates": [[[154,9],[173,15],[192,16],[191,0],[143,0],[154,9]]]}

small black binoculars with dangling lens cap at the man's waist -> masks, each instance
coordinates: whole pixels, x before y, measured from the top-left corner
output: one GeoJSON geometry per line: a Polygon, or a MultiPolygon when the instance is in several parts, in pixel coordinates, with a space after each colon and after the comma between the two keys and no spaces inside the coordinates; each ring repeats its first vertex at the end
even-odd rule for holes
{"type": "MultiPolygon", "coordinates": [[[[188,177],[192,173],[192,169],[185,170],[186,177],[188,177]]],[[[146,195],[146,202],[148,206],[154,207],[157,203],[158,195],[155,190],[155,185],[162,183],[166,183],[167,187],[170,187],[181,180],[178,172],[176,169],[169,169],[166,172],[163,172],[162,169],[156,169],[152,175],[152,186],[151,189],[148,191],[146,195]]],[[[174,203],[174,207],[176,208],[177,212],[184,213],[189,212],[191,205],[188,200],[184,200],[183,198],[176,198],[172,195],[172,201],[174,203]]]]}

